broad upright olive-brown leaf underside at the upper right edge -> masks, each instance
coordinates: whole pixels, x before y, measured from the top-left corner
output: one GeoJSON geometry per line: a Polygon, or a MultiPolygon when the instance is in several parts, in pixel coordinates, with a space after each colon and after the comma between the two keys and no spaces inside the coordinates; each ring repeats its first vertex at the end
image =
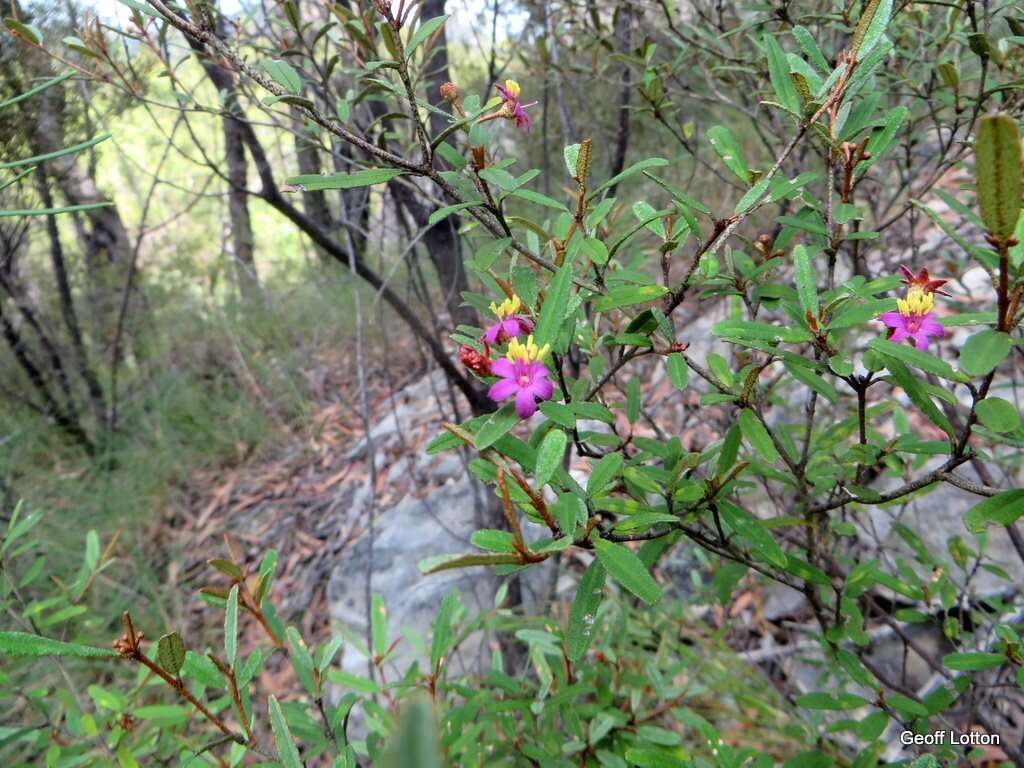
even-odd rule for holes
{"type": "Polygon", "coordinates": [[[1021,210],[1021,140],[1009,115],[986,115],[974,144],[978,205],[988,233],[1006,240],[1021,210]]]}

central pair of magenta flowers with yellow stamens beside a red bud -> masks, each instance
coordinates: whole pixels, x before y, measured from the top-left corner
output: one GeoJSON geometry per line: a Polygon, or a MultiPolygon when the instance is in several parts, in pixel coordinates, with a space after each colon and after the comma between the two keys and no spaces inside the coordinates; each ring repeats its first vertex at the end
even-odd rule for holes
{"type": "Polygon", "coordinates": [[[480,338],[483,351],[478,352],[467,345],[459,351],[459,359],[481,378],[497,376],[498,381],[487,390],[487,397],[496,402],[514,397],[519,418],[528,419],[537,411],[537,403],[551,399],[554,392],[554,384],[543,361],[549,347],[547,344],[539,347],[532,335],[528,335],[534,330],[534,322],[523,313],[518,296],[511,296],[501,304],[492,303],[490,311],[498,321],[488,326],[480,338]],[[525,343],[519,340],[523,335],[526,335],[525,343]],[[505,356],[492,360],[490,345],[506,341],[505,356]]]}

